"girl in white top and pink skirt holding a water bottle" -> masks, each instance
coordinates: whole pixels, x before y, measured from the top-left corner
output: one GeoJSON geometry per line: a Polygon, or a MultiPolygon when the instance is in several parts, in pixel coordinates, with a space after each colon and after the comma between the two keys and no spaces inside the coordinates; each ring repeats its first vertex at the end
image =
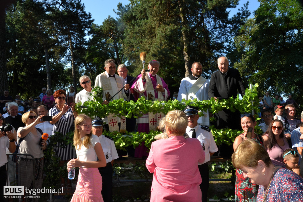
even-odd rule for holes
{"type": "Polygon", "coordinates": [[[68,170],[80,167],[73,201],[103,202],[102,177],[98,167],[105,167],[106,160],[98,136],[92,135],[92,119],[80,114],[75,119],[74,145],[77,159],[67,163],[68,170]]]}

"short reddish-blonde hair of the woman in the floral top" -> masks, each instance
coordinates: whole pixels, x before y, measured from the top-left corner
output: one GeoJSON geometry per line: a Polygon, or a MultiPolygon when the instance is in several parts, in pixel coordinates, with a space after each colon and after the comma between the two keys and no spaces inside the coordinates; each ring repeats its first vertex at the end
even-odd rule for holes
{"type": "Polygon", "coordinates": [[[271,160],[265,148],[255,142],[255,140],[247,139],[238,145],[237,149],[231,156],[232,164],[235,168],[258,166],[258,161],[262,160],[266,167],[269,167],[271,160]]]}

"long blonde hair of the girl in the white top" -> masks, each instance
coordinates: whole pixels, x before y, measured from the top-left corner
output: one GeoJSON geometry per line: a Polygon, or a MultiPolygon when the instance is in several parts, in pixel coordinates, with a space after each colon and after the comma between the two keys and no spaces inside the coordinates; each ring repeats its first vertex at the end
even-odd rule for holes
{"type": "Polygon", "coordinates": [[[92,137],[92,131],[89,134],[86,134],[86,136],[84,137],[84,140],[82,142],[81,140],[81,136],[80,136],[80,132],[77,128],[77,125],[79,125],[80,123],[82,123],[84,120],[86,119],[91,119],[91,117],[85,115],[85,114],[80,114],[79,116],[77,116],[75,118],[75,133],[74,133],[74,146],[77,149],[77,146],[79,146],[78,148],[80,148],[82,146],[82,144],[86,147],[89,148],[89,146],[92,146],[91,143],[91,137],[92,137]]]}

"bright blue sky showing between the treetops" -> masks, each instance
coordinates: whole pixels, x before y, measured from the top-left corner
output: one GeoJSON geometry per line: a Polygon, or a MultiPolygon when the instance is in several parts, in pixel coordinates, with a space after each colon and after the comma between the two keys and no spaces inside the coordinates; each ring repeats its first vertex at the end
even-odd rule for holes
{"type": "MultiPolygon", "coordinates": [[[[92,14],[92,18],[95,19],[94,23],[97,25],[101,25],[108,15],[111,15],[114,18],[118,17],[113,9],[117,11],[117,5],[119,2],[121,2],[122,5],[130,3],[129,0],[81,0],[81,2],[85,5],[85,11],[92,14]]],[[[246,2],[247,0],[240,0],[238,7],[233,9],[230,14],[234,15],[238,11],[238,8],[241,8],[241,6],[246,2]]],[[[249,0],[248,9],[252,13],[259,7],[259,5],[260,4],[257,0],[249,0]]],[[[252,15],[253,14],[251,14],[250,17],[252,17],[252,15]]]]}

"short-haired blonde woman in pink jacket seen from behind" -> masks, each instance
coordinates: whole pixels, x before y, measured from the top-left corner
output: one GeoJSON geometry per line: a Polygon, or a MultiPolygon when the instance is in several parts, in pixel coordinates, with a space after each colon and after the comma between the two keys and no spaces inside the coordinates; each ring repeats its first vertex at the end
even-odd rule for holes
{"type": "Polygon", "coordinates": [[[182,111],[167,113],[165,129],[168,139],[151,144],[146,160],[148,171],[154,173],[151,202],[201,201],[198,162],[204,162],[205,153],[198,139],[184,138],[187,125],[188,119],[182,111]]]}

